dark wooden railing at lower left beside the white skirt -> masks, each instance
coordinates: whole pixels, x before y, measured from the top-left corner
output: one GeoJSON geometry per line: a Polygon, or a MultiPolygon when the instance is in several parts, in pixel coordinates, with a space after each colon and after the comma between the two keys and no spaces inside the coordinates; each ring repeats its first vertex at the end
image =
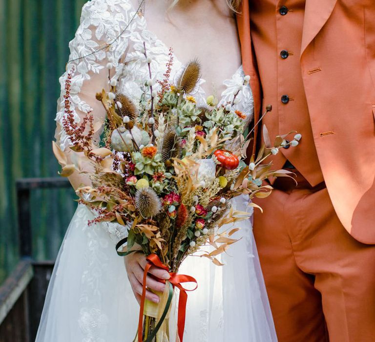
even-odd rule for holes
{"type": "Polygon", "coordinates": [[[21,261],[0,287],[0,342],[33,342],[54,262],[32,259],[30,194],[70,188],[70,183],[64,178],[20,179],[16,188],[21,261]]]}

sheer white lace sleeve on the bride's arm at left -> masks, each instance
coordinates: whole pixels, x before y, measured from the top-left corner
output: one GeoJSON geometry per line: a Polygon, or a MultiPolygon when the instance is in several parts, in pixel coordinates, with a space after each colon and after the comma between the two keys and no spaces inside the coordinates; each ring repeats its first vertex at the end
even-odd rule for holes
{"type": "MultiPolygon", "coordinates": [[[[83,6],[80,26],[69,43],[69,62],[60,78],[61,96],[55,119],[55,139],[68,160],[71,157],[71,141],[63,128],[66,87],[70,82],[69,109],[76,122],[92,111],[96,128],[94,141],[99,141],[105,110],[95,94],[103,88],[107,90],[110,80],[117,81],[124,72],[126,53],[132,44],[133,30],[136,30],[133,24],[136,16],[132,5],[126,0],[92,0],[83,6]]],[[[89,180],[77,172],[69,180],[74,188],[89,184],[89,180]]]]}

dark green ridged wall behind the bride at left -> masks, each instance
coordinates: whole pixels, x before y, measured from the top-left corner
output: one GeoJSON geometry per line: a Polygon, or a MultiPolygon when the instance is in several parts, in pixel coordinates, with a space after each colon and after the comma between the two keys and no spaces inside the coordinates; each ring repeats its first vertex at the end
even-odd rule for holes
{"type": "MultiPolygon", "coordinates": [[[[15,180],[57,175],[51,151],[59,77],[85,0],[0,0],[0,281],[18,261],[15,180]]],[[[32,194],[35,257],[54,258],[72,190],[32,194]]]]}

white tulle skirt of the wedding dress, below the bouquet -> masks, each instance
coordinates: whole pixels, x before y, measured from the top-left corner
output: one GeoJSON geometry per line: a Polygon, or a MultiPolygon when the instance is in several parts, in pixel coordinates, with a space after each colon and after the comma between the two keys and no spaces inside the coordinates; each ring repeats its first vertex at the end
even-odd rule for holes
{"type": "MultiPolygon", "coordinates": [[[[245,196],[233,205],[249,210],[245,196]]],[[[88,226],[91,218],[79,204],[56,259],[36,342],[132,342],[135,337],[139,305],[124,259],[116,254],[107,225],[88,226]]],[[[197,290],[188,292],[184,342],[277,341],[251,222],[235,227],[242,238],[221,256],[225,266],[189,256],[180,268],[198,282],[197,290]]]]}

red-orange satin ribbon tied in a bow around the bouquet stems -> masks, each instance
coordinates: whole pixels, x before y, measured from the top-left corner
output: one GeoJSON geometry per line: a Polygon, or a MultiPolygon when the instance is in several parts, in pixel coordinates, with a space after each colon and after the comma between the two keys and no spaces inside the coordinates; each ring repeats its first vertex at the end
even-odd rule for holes
{"type": "MultiPolygon", "coordinates": [[[[148,261],[146,267],[145,267],[145,272],[143,274],[143,290],[142,290],[142,299],[141,299],[141,307],[139,311],[139,321],[138,321],[138,342],[143,342],[142,341],[142,335],[143,335],[143,311],[145,308],[145,300],[146,300],[146,278],[147,278],[147,273],[148,270],[152,265],[162,268],[166,271],[169,271],[168,266],[164,265],[160,259],[159,256],[156,254],[150,254],[147,256],[146,260],[148,261]]],[[[178,299],[178,319],[177,319],[177,328],[178,328],[178,336],[180,338],[180,342],[183,342],[183,337],[184,337],[184,329],[185,329],[185,319],[186,319],[186,303],[187,303],[187,291],[194,291],[198,287],[197,281],[190,276],[186,275],[179,275],[174,272],[168,272],[170,275],[170,278],[168,281],[173,285],[174,287],[177,287],[180,289],[180,296],[178,299]],[[195,282],[196,286],[195,288],[191,290],[185,289],[181,283],[184,282],[195,282]]],[[[166,280],[157,278],[158,281],[165,283],[166,280]]]]}

